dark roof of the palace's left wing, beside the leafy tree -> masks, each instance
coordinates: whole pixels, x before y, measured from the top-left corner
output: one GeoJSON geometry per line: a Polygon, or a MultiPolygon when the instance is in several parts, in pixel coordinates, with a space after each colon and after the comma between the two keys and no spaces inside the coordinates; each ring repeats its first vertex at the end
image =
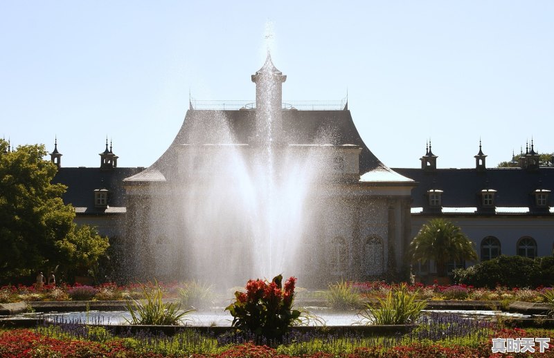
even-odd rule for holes
{"type": "Polygon", "coordinates": [[[75,208],[87,208],[87,213],[102,213],[105,209],[94,205],[94,190],[108,189],[108,206],[125,207],[125,189],[123,179],[139,173],[143,168],[60,168],[52,182],[66,185],[67,190],[62,196],[64,204],[75,208]]]}

